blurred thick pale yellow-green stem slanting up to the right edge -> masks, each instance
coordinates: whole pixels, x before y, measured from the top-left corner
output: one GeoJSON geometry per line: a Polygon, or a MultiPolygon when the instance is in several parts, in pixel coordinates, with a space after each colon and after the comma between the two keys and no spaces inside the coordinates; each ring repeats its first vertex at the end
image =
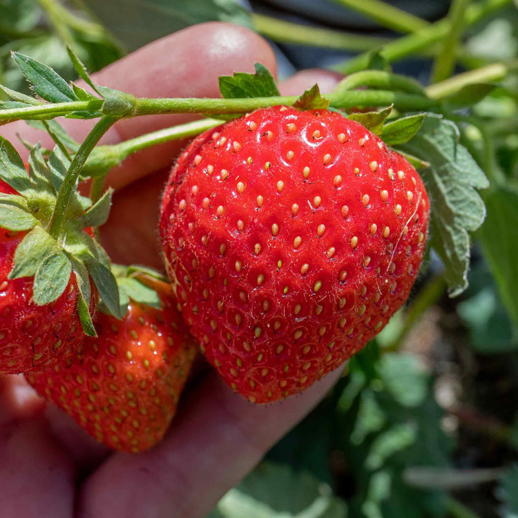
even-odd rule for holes
{"type": "Polygon", "coordinates": [[[448,95],[458,92],[464,86],[468,86],[468,84],[487,83],[503,79],[508,73],[517,68],[518,61],[510,64],[493,63],[475,70],[468,70],[468,72],[455,75],[440,83],[432,84],[428,86],[428,88],[425,88],[425,92],[426,95],[432,99],[443,99],[444,97],[448,97],[448,95]]]}

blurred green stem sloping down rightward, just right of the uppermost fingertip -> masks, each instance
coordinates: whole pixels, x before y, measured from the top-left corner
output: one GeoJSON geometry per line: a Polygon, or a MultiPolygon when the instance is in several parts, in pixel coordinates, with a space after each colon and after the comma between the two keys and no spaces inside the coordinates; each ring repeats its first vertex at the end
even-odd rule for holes
{"type": "Polygon", "coordinates": [[[280,43],[362,52],[387,44],[390,39],[356,35],[341,30],[304,26],[300,23],[253,14],[253,27],[263,36],[280,43]]]}

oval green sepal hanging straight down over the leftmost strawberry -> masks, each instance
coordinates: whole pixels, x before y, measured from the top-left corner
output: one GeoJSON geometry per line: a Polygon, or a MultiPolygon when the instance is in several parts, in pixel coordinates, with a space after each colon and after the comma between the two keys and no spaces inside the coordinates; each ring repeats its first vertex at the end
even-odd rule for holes
{"type": "Polygon", "coordinates": [[[32,285],[32,298],[39,306],[53,303],[65,291],[72,263],[64,250],[59,250],[45,258],[38,268],[32,285]]]}

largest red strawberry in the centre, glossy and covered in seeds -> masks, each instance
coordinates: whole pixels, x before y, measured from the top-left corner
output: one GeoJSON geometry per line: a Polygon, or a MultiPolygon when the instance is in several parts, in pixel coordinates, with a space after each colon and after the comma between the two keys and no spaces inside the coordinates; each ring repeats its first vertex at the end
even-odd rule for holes
{"type": "Polygon", "coordinates": [[[202,352],[269,403],[338,367],[403,305],[429,207],[415,169],[361,124],[277,106],[191,143],[160,231],[202,352]]]}

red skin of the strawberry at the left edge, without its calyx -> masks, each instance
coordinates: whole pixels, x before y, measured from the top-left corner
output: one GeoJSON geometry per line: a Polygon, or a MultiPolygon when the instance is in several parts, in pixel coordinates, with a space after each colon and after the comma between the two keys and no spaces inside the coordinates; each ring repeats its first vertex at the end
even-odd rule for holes
{"type": "MultiPolygon", "coordinates": [[[[1,180],[0,193],[17,194],[1,180]]],[[[75,274],[64,293],[46,306],[32,301],[32,278],[8,279],[25,234],[0,229],[0,375],[42,370],[73,354],[84,338],[75,274]]]]}

